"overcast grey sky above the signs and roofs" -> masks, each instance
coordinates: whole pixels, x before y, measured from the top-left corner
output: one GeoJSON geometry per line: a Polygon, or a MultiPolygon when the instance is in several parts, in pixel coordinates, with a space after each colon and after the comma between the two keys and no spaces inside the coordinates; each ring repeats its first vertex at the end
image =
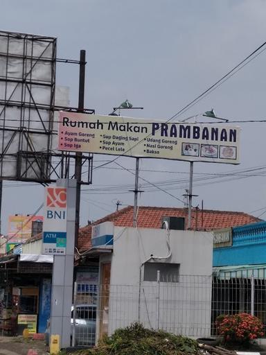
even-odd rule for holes
{"type": "MultiPolygon", "coordinates": [[[[97,114],[109,114],[127,98],[144,107],[127,116],[166,120],[265,42],[265,18],[264,0],[1,0],[0,30],[57,37],[59,58],[78,59],[85,49],[85,107],[97,114]]],[[[265,119],[265,60],[266,51],[179,119],[211,107],[233,121],[265,119]]],[[[71,106],[76,106],[78,66],[57,64],[57,85],[71,88],[71,106]]],[[[195,181],[193,205],[203,200],[206,209],[265,218],[266,123],[239,125],[241,164],[195,163],[194,178],[201,180],[195,181]],[[258,167],[248,178],[241,172],[258,167]],[[214,173],[230,175],[226,182],[206,180],[214,173]]],[[[94,166],[111,159],[94,155],[94,166]]],[[[116,162],[135,166],[133,158],[116,162]]],[[[93,184],[82,188],[80,225],[115,211],[116,200],[133,204],[127,190],[134,189],[134,175],[121,166],[97,169],[93,184]]],[[[187,162],[141,159],[140,167],[141,178],[176,198],[145,183],[139,205],[184,206],[177,198],[183,200],[188,188],[187,162]]],[[[1,232],[7,232],[9,215],[33,214],[43,201],[43,187],[5,181],[1,232]]]]}

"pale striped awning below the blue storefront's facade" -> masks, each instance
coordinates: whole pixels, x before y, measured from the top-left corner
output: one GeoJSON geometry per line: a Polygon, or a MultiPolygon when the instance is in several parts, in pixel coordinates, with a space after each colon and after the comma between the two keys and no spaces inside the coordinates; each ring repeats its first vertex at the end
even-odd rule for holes
{"type": "Polygon", "coordinates": [[[213,276],[219,279],[233,279],[254,276],[256,279],[266,278],[266,264],[259,265],[231,265],[213,268],[213,276]]]}

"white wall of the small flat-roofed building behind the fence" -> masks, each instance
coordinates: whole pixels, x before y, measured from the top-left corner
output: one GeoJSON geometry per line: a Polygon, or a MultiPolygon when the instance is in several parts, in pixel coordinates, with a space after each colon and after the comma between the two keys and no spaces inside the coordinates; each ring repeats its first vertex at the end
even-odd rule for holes
{"type": "Polygon", "coordinates": [[[109,334],[134,321],[156,328],[159,319],[159,327],[167,331],[210,336],[213,235],[170,230],[172,257],[161,262],[179,263],[180,277],[179,282],[161,282],[158,291],[157,282],[143,282],[143,263],[151,254],[166,257],[166,233],[166,230],[115,227],[109,334]]]}

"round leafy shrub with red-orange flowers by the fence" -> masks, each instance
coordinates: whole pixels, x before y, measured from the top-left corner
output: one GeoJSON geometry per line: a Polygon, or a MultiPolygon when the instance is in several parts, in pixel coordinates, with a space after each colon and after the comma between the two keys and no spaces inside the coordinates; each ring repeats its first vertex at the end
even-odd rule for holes
{"type": "Polygon", "coordinates": [[[251,340],[264,335],[262,322],[254,315],[247,313],[219,316],[216,324],[218,334],[223,336],[224,343],[247,345],[251,340]]]}

